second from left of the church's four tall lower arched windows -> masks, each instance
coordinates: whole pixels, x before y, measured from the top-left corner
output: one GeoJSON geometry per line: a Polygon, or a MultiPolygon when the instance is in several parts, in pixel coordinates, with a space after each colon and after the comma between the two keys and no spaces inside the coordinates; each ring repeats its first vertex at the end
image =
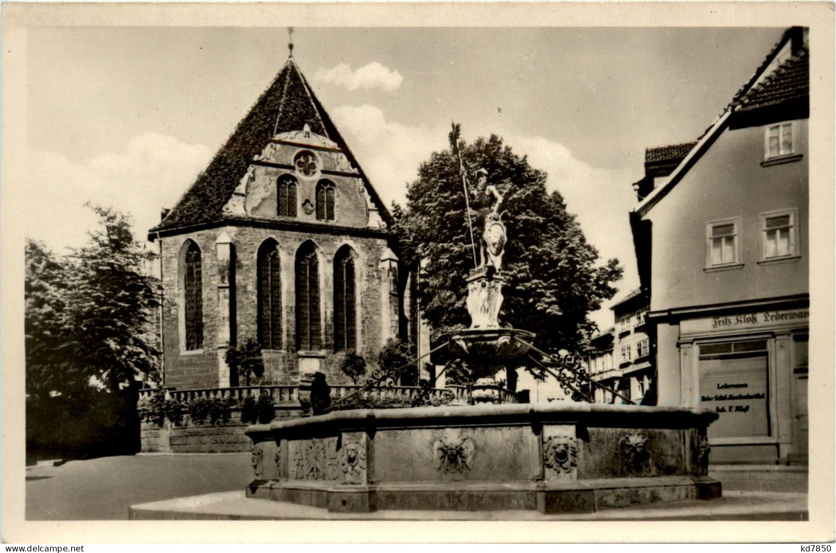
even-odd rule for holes
{"type": "Polygon", "coordinates": [[[275,240],[258,248],[258,341],[264,349],[282,348],[282,277],[275,240]]]}

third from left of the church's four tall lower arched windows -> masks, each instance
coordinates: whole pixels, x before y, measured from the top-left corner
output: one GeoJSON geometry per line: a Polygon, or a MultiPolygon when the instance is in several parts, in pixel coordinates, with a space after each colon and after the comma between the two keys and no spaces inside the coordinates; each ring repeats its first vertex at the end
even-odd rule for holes
{"type": "Polygon", "coordinates": [[[308,241],[296,252],[296,349],[319,348],[319,261],[308,241]]]}

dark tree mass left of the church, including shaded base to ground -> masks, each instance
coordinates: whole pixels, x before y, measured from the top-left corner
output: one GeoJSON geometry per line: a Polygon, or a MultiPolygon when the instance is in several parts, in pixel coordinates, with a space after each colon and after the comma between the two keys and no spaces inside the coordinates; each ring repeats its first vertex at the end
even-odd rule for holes
{"type": "Polygon", "coordinates": [[[27,241],[24,288],[28,449],[133,453],[136,377],[155,379],[150,324],[159,283],[128,216],[93,207],[86,246],[55,256],[27,241]]]}

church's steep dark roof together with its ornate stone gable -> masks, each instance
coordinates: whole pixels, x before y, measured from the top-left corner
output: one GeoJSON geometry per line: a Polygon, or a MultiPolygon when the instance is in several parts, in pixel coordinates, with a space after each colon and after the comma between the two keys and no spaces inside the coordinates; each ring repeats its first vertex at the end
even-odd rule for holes
{"type": "Polygon", "coordinates": [[[391,222],[348,145],[293,58],[288,58],[206,170],[150,233],[230,218],[293,219],[290,200],[285,200],[284,209],[280,205],[293,192],[278,182],[283,175],[298,180],[297,221],[373,228],[391,222]],[[300,155],[302,150],[309,155],[300,155]],[[311,175],[300,174],[297,164],[316,165],[319,179],[314,182],[311,175]]]}

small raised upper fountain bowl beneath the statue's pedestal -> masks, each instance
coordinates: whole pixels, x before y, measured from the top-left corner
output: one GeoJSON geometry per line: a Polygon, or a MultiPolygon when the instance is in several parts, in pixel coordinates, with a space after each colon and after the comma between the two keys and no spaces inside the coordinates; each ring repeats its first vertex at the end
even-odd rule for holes
{"type": "Polygon", "coordinates": [[[534,333],[516,328],[467,328],[446,332],[441,342],[449,341],[447,351],[471,363],[501,364],[528,353],[528,346],[515,338],[533,342],[534,333]]]}

